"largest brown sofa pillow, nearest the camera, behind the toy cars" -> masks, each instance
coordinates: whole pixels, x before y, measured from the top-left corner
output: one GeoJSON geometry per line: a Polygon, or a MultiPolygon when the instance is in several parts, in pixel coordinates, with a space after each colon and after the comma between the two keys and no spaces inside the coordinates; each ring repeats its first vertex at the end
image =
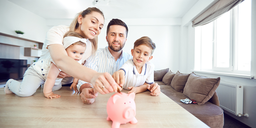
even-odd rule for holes
{"type": "Polygon", "coordinates": [[[196,101],[198,105],[207,102],[220,84],[219,78],[208,78],[191,73],[183,94],[196,101]]]}

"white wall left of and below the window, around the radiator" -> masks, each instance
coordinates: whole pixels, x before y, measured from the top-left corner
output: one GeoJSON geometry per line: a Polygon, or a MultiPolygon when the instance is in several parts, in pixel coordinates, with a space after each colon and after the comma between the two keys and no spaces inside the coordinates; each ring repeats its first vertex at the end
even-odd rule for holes
{"type": "MultiPolygon", "coordinates": [[[[211,0],[212,1],[212,0],[211,0]]],[[[213,1],[214,2],[214,1],[213,1]]],[[[202,0],[198,1],[197,4],[192,7],[189,12],[182,18],[181,25],[181,43],[180,43],[180,66],[179,70],[184,71],[182,73],[191,73],[191,70],[194,70],[194,61],[195,61],[195,28],[192,27],[191,21],[194,17],[200,13],[200,10],[204,10],[203,7],[207,7],[207,4],[211,4],[209,2],[204,2],[202,0]],[[191,16],[192,15],[192,16],[191,16]],[[184,41],[186,40],[186,41],[184,41]],[[184,65],[184,63],[186,65],[184,65]]],[[[238,78],[238,77],[229,77],[229,76],[221,76],[215,74],[208,73],[199,73],[195,72],[197,75],[206,76],[210,78],[218,78],[220,77],[221,82],[234,83],[244,85],[243,90],[243,114],[249,114],[249,118],[245,117],[237,117],[227,111],[224,111],[226,114],[232,116],[233,118],[241,121],[242,123],[250,126],[256,126],[256,82],[252,79],[246,78],[238,78]]]]}

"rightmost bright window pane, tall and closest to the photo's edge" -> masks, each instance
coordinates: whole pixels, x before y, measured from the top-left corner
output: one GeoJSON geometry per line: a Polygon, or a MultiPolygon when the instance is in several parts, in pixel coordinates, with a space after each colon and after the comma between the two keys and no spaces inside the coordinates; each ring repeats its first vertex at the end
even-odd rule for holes
{"type": "Polygon", "coordinates": [[[251,70],[251,0],[238,5],[237,70],[251,70]]]}

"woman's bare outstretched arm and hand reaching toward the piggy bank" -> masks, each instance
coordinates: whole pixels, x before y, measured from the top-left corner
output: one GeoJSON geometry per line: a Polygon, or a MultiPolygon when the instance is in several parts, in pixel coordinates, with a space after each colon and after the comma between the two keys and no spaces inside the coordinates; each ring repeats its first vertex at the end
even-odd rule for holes
{"type": "MultiPolygon", "coordinates": [[[[67,55],[66,50],[60,44],[48,46],[52,60],[56,66],[70,76],[90,82],[96,89],[103,86],[110,92],[116,92],[119,86],[109,73],[98,73],[92,69],[82,66],[77,61],[67,55]]],[[[102,91],[102,90],[97,90],[102,91]]]]}

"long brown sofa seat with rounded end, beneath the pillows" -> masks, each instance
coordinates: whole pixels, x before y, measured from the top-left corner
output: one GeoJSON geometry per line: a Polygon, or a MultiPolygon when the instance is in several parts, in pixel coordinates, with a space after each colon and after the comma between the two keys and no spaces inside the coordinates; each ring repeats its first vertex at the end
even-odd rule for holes
{"type": "MultiPolygon", "coordinates": [[[[210,102],[206,102],[203,105],[197,104],[184,104],[180,102],[181,99],[188,98],[181,92],[175,91],[174,88],[168,85],[160,86],[161,92],[167,97],[175,101],[177,104],[182,106],[188,112],[196,116],[199,120],[207,124],[211,128],[223,128],[224,115],[223,110],[210,102]]],[[[217,93],[216,93],[217,94],[217,93]]]]}

